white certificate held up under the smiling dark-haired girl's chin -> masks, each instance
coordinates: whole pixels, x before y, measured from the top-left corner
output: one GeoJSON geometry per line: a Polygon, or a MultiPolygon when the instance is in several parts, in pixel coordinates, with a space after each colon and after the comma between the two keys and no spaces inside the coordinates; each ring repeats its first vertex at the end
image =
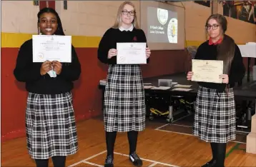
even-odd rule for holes
{"type": "Polygon", "coordinates": [[[33,35],[33,62],[71,63],[72,36],[33,35]]]}

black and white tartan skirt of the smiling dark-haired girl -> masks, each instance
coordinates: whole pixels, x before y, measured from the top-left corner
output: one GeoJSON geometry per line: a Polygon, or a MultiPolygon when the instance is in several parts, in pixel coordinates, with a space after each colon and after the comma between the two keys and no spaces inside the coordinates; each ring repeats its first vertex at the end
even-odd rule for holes
{"type": "Polygon", "coordinates": [[[31,158],[48,159],[78,151],[72,93],[30,93],[26,105],[26,143],[31,158]]]}

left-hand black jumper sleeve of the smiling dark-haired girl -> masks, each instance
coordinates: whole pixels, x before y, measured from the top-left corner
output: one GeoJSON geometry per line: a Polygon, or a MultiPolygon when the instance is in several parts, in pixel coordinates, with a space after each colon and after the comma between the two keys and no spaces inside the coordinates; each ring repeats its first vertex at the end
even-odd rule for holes
{"type": "Polygon", "coordinates": [[[26,41],[21,45],[16,59],[14,76],[17,81],[32,82],[40,79],[41,64],[33,63],[32,42],[26,41]]]}

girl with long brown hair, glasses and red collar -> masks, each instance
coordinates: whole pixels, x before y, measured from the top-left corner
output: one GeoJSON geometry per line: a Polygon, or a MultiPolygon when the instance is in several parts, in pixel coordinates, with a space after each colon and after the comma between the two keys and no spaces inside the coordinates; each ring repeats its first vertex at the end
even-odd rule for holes
{"type": "MultiPolygon", "coordinates": [[[[210,39],[197,49],[195,59],[223,61],[222,83],[198,82],[197,103],[193,133],[202,141],[210,142],[212,160],[204,166],[223,167],[226,145],[235,140],[235,100],[233,87],[245,76],[240,49],[225,34],[227,20],[221,14],[213,14],[205,24],[210,39]]],[[[193,73],[187,74],[192,79],[193,73]]]]}

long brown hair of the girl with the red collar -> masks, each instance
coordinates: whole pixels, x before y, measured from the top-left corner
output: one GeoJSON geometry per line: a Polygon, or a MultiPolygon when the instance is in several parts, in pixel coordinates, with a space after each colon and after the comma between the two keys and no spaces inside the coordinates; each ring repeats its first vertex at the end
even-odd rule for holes
{"type": "Polygon", "coordinates": [[[207,26],[210,19],[215,19],[222,31],[222,42],[217,46],[217,60],[223,61],[223,74],[229,74],[230,66],[235,55],[235,41],[230,36],[227,36],[225,32],[227,31],[227,19],[221,14],[212,14],[206,21],[205,26],[207,26]]]}

